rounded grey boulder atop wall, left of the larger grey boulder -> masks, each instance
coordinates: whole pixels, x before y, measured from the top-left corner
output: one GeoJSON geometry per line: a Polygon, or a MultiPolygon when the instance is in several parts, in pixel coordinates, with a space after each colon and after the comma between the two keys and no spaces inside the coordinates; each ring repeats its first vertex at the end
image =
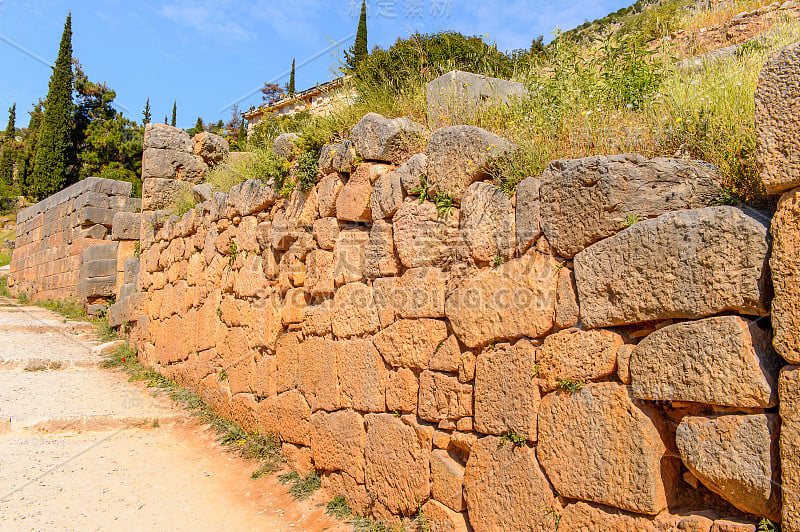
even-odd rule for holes
{"type": "Polygon", "coordinates": [[[362,158],[397,164],[410,155],[413,142],[423,131],[421,125],[407,118],[388,119],[367,113],[353,126],[350,138],[362,158]]]}

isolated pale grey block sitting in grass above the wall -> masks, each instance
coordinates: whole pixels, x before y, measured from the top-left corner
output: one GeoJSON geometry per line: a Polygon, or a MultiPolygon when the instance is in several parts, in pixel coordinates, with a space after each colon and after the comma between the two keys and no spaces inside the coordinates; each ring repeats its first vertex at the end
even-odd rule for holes
{"type": "Polygon", "coordinates": [[[509,105],[528,97],[522,83],[453,70],[425,86],[428,117],[433,122],[476,116],[487,107],[509,105]]]}

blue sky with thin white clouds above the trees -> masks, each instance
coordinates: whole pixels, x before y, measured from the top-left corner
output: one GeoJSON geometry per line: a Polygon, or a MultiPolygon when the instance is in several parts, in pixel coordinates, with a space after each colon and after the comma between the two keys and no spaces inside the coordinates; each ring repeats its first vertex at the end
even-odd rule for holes
{"type": "MultiPolygon", "coordinates": [[[[488,35],[500,49],[527,47],[556,26],[569,29],[632,0],[369,0],[369,46],[387,47],[414,31],[488,35]]],[[[229,105],[261,102],[265,81],[288,81],[297,60],[298,90],[334,77],[353,38],[360,0],[0,0],[0,128],[17,103],[17,125],[47,93],[64,20],[72,11],[73,53],[89,79],[117,93],[124,114],[154,120],[178,102],[178,125],[198,116],[227,120],[229,105]],[[24,50],[24,51],[23,51],[24,50]],[[309,59],[311,59],[309,61],[309,59]],[[301,66],[302,64],[302,66],[301,66]],[[255,94],[254,94],[255,93],[255,94]]]]}

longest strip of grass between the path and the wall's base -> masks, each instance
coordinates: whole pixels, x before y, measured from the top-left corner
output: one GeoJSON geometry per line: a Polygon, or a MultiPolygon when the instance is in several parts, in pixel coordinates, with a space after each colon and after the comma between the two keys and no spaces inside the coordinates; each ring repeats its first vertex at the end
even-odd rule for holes
{"type": "Polygon", "coordinates": [[[154,369],[144,366],[139,362],[136,351],[127,343],[104,355],[104,358],[104,368],[121,369],[128,374],[131,381],[144,382],[148,387],[162,390],[170,399],[189,410],[192,416],[210,425],[216,432],[218,441],[226,449],[260,462],[252,478],[260,478],[280,469],[283,457],[280,454],[280,441],[276,436],[247,432],[236,423],[218,415],[194,390],[182,387],[154,369]]]}

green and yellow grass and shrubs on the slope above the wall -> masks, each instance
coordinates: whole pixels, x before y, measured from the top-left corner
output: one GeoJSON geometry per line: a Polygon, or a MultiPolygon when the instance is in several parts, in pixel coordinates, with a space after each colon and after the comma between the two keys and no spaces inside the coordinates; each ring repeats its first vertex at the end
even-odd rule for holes
{"type": "MultiPolygon", "coordinates": [[[[763,205],[753,96],[767,58],[800,37],[798,24],[779,21],[766,37],[741,47],[731,59],[709,61],[694,71],[677,64],[696,53],[697,47],[676,45],[669,36],[679,32],[691,40],[692,32],[703,25],[725,23],[767,3],[714,2],[706,8],[706,2],[639,1],[576,30],[557,32],[547,46],[533,40],[530,49],[511,53],[457,33],[414,34],[388,50],[373,50],[353,72],[349,88],[358,94],[354,101],[339,104],[325,117],[301,113],[265,120],[249,148],[264,150],[262,158],[269,160],[272,139],[296,131],[302,132],[296,149],[318,153],[325,142],[346,136],[367,112],[426,124],[425,84],[459,69],[520,81],[530,91],[530,99],[511,106],[458,117],[459,124],[485,128],[519,146],[495,176],[509,193],[519,180],[540,174],[554,159],[677,153],[721,169],[728,190],[722,201],[763,205]]],[[[265,166],[268,176],[275,168],[285,173],[281,162],[258,166],[261,175],[265,166]]],[[[218,174],[226,172],[223,167],[218,174]]],[[[248,172],[239,174],[246,177],[248,172]]],[[[290,193],[295,183],[284,176],[281,185],[284,193],[290,193]]]]}

